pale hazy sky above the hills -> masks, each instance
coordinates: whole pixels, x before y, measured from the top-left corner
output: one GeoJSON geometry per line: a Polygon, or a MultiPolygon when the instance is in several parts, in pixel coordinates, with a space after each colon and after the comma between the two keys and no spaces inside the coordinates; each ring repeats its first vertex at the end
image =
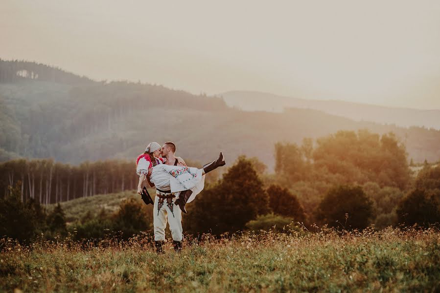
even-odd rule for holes
{"type": "Polygon", "coordinates": [[[199,94],[440,109],[440,1],[1,0],[0,58],[199,94]]]}

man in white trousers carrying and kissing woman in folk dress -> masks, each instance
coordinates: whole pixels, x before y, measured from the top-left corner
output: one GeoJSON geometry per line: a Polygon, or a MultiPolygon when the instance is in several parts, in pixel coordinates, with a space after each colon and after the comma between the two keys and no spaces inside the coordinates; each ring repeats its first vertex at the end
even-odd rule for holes
{"type": "Polygon", "coordinates": [[[185,204],[194,200],[205,186],[205,174],[217,167],[224,166],[223,153],[203,168],[187,167],[181,157],[175,156],[176,145],[166,142],[163,146],[156,142],[148,144],[145,152],[139,155],[136,172],[139,175],[138,193],[142,195],[146,183],[156,187],[153,204],[153,226],[156,251],[162,253],[165,241],[165,227],[169,228],[174,242],[174,250],[182,249],[183,229],[182,211],[185,204]]]}

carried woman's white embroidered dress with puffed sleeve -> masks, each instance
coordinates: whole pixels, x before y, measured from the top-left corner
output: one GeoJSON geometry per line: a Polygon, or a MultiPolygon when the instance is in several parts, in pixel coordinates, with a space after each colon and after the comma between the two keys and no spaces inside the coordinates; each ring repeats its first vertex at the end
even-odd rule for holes
{"type": "MultiPolygon", "coordinates": [[[[164,160],[163,160],[164,162],[164,160]]],[[[157,159],[158,165],[153,167],[150,181],[154,183],[156,188],[161,190],[171,190],[171,192],[179,192],[187,189],[192,190],[192,194],[186,203],[194,200],[197,194],[205,187],[205,175],[202,175],[203,169],[195,167],[169,166],[162,164],[157,159]]],[[[136,173],[141,176],[148,174],[150,162],[145,158],[140,158],[136,173]]]]}

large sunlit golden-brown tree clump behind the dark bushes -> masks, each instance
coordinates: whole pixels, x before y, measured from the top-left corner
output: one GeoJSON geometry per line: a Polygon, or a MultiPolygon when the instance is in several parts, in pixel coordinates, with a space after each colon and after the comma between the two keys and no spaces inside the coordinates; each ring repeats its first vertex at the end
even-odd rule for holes
{"type": "Polygon", "coordinates": [[[408,154],[394,133],[379,135],[367,129],[338,131],[310,138],[302,145],[277,143],[276,173],[286,184],[299,181],[327,183],[376,182],[404,190],[410,182],[408,154]]]}

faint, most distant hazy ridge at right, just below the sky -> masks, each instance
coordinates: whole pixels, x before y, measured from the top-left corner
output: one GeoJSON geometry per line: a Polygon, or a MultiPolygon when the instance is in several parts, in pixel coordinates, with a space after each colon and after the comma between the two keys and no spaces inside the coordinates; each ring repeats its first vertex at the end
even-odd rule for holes
{"type": "MultiPolygon", "coordinates": [[[[277,96],[254,91],[229,91],[220,94],[226,104],[244,111],[282,112],[285,108],[307,108],[355,121],[371,121],[397,126],[425,126],[440,129],[440,109],[418,110],[351,103],[320,101],[277,96]]],[[[439,96],[440,99],[440,96],[439,96]]]]}

